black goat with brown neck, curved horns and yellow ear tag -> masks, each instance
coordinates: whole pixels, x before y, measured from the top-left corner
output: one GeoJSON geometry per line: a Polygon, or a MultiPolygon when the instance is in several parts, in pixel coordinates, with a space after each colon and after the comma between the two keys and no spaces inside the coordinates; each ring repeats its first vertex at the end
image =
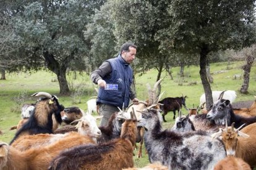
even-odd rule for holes
{"type": "Polygon", "coordinates": [[[54,120],[61,124],[61,111],[64,110],[62,105],[59,105],[58,98],[47,92],[36,92],[32,96],[41,96],[40,100],[35,105],[32,115],[28,119],[19,131],[16,132],[14,139],[10,142],[10,145],[20,135],[24,134],[40,134],[40,133],[53,133],[53,115],[54,120]]]}

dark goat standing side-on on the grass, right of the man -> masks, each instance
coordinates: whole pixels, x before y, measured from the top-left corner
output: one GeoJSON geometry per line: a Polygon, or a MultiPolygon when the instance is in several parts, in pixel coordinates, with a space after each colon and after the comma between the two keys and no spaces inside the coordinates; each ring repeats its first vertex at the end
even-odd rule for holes
{"type": "Polygon", "coordinates": [[[186,95],[182,95],[182,97],[166,97],[158,102],[163,104],[160,106],[160,109],[163,111],[164,122],[166,122],[164,116],[168,113],[168,111],[173,111],[173,119],[175,119],[176,110],[179,112],[179,110],[182,108],[182,105],[184,105],[184,107],[186,108],[186,97],[186,95]]]}

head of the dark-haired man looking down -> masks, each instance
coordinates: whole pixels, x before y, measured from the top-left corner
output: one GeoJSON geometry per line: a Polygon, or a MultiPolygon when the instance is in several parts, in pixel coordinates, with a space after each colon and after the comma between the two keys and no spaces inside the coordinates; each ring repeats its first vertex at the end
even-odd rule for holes
{"type": "Polygon", "coordinates": [[[122,44],[120,54],[127,63],[132,63],[135,59],[137,46],[130,42],[122,44]]]}

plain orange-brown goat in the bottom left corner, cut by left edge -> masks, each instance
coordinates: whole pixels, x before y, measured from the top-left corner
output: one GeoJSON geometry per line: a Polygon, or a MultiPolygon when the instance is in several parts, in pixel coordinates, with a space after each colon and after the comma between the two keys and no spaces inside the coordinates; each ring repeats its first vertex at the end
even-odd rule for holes
{"type": "Polygon", "coordinates": [[[51,160],[62,150],[81,144],[95,144],[95,142],[91,137],[81,136],[77,133],[46,147],[31,148],[24,152],[20,152],[6,143],[0,143],[0,169],[47,169],[51,160]]]}

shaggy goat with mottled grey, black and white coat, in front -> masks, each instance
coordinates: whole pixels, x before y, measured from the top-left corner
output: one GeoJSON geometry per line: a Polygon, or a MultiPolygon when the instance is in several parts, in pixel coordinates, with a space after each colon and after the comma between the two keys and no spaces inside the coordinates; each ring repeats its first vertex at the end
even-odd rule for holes
{"type": "Polygon", "coordinates": [[[220,140],[211,139],[207,132],[177,133],[161,129],[158,110],[142,111],[145,131],[145,147],[150,163],[160,161],[168,169],[213,169],[226,157],[220,140]]]}

